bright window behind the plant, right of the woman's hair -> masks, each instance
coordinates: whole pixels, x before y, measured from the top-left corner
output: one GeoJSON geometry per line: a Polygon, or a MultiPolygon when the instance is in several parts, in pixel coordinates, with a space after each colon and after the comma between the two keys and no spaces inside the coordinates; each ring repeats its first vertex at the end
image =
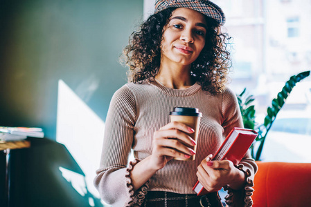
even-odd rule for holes
{"type": "MultiPolygon", "coordinates": [[[[233,73],[229,85],[254,95],[256,120],[292,75],[311,69],[311,1],[216,1],[226,14],[224,28],[233,37],[233,73]],[[240,15],[237,13],[240,12],[240,15]]],[[[311,77],[297,83],[268,132],[263,161],[311,161],[311,77]]]]}

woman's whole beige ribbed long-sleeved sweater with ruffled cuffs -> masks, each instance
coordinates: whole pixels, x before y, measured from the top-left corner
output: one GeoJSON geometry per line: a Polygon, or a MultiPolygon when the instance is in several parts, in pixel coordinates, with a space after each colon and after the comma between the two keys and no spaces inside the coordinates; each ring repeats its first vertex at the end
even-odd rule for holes
{"type": "MultiPolygon", "coordinates": [[[[143,191],[148,188],[195,193],[192,189],[197,181],[197,166],[207,155],[215,154],[233,127],[242,127],[236,96],[229,89],[221,95],[209,95],[197,83],[184,90],[150,81],[125,84],[115,92],[109,106],[100,168],[94,180],[107,204],[127,206],[143,200],[143,192],[132,190],[129,172],[135,162],[127,166],[128,156],[131,149],[138,160],[152,153],[154,131],[168,124],[169,112],[176,106],[199,108],[202,112],[195,161],[172,159],[143,186],[143,191]]],[[[254,160],[247,155],[241,164],[252,180],[254,160]]]]}

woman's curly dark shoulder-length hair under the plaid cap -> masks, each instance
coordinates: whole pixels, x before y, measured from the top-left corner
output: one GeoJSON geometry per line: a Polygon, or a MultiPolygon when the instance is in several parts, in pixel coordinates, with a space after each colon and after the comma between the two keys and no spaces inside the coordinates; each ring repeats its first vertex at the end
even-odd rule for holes
{"type": "MultiPolygon", "coordinates": [[[[132,33],[130,43],[123,50],[125,63],[130,67],[128,79],[141,83],[145,79],[154,79],[161,61],[161,41],[163,27],[169,21],[172,11],[168,8],[152,14],[141,24],[141,29],[132,33]]],[[[205,16],[205,15],[204,15],[205,16]]],[[[227,75],[231,66],[228,34],[222,33],[214,19],[206,17],[207,30],[205,46],[199,57],[192,63],[191,75],[202,90],[211,94],[224,91],[227,75]]]]}

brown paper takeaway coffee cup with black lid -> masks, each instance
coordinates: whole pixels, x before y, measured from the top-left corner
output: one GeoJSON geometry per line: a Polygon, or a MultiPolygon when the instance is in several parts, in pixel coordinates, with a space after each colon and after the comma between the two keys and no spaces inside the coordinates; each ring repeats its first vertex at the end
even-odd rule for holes
{"type": "MultiPolygon", "coordinates": [[[[202,113],[199,112],[197,108],[184,108],[184,107],[175,107],[172,112],[170,112],[170,121],[178,121],[190,128],[193,128],[195,132],[189,133],[188,135],[197,142],[197,136],[199,135],[199,121],[202,117],[202,113]]],[[[195,152],[197,151],[197,146],[189,146],[186,143],[184,145],[192,148],[195,152]]],[[[192,155],[188,159],[175,158],[178,160],[195,160],[195,155],[192,155]]]]}

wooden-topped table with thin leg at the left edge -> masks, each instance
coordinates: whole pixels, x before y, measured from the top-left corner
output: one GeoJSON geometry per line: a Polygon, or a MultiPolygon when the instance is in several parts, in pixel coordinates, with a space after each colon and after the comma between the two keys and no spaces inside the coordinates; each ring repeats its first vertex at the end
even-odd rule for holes
{"type": "Polygon", "coordinates": [[[30,141],[0,141],[0,151],[6,155],[6,206],[10,206],[10,150],[21,148],[30,148],[30,141]]]}

